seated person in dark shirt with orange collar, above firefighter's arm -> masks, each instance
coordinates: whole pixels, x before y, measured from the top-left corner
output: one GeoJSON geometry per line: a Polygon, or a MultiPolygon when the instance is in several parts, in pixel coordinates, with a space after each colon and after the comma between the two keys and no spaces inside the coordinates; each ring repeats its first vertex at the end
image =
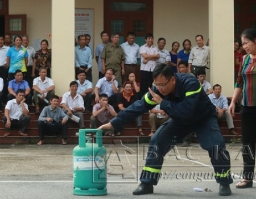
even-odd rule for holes
{"type": "MultiPolygon", "coordinates": [[[[137,94],[133,93],[132,88],[133,85],[131,84],[130,81],[125,82],[123,92],[119,93],[117,96],[117,105],[119,110],[125,110],[128,106],[132,105],[135,101],[139,99],[137,94]]],[[[141,115],[136,117],[135,120],[138,126],[139,135],[144,136],[145,134],[143,133],[142,129],[141,115]]]]}

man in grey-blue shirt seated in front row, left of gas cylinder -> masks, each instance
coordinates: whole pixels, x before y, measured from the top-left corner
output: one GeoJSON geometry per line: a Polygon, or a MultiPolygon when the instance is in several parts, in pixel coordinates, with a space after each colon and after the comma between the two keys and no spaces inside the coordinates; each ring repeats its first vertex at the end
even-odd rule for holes
{"type": "Polygon", "coordinates": [[[52,135],[59,132],[61,134],[61,144],[67,145],[68,115],[59,107],[59,99],[59,96],[51,96],[49,99],[51,105],[45,106],[39,115],[38,130],[40,141],[38,145],[44,143],[44,135],[46,133],[52,135]]]}

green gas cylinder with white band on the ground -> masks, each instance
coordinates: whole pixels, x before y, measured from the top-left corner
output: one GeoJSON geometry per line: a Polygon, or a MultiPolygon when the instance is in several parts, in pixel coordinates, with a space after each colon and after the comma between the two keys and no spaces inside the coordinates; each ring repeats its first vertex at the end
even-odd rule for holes
{"type": "Polygon", "coordinates": [[[102,146],[102,130],[80,129],[79,146],[73,150],[73,194],[102,196],[106,188],[106,148],[102,146]],[[96,132],[96,143],[88,133],[96,132]]]}

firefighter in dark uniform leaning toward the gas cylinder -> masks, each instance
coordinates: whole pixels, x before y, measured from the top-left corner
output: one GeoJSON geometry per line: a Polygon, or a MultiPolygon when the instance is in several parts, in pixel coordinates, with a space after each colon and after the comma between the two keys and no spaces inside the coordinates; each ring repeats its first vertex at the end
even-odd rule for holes
{"type": "Polygon", "coordinates": [[[233,183],[230,175],[230,156],[226,150],[223,136],[217,122],[216,108],[202,89],[200,82],[193,76],[173,73],[166,64],[159,64],[152,73],[152,90],[140,101],[122,110],[110,123],[101,129],[113,126],[122,130],[126,122],[153,109],[156,104],[164,110],[170,119],[156,130],[148,144],[146,164],[141,173],[141,184],[134,195],[153,193],[153,185],[158,184],[161,175],[163,157],[192,131],[204,150],[208,151],[214,168],[214,177],[220,184],[219,195],[229,196],[233,183]]]}

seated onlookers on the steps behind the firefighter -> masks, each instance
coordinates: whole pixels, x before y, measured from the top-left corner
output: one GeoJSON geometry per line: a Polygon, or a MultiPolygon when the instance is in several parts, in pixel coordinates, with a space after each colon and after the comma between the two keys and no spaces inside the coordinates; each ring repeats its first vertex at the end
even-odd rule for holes
{"type": "MultiPolygon", "coordinates": [[[[188,64],[180,61],[180,73],[188,73],[188,64]]],[[[194,76],[194,74],[189,73],[194,76]]],[[[18,135],[27,136],[26,127],[30,122],[30,115],[28,115],[28,105],[26,103],[27,96],[31,95],[30,88],[23,80],[23,74],[20,70],[14,73],[14,80],[9,82],[10,100],[5,107],[5,115],[3,116],[3,123],[6,127],[4,136],[11,135],[10,128],[19,128],[18,135]],[[13,96],[13,97],[11,97],[13,96]],[[14,99],[13,99],[14,98],[14,99]]],[[[214,85],[211,88],[209,82],[205,81],[205,72],[198,71],[197,75],[205,92],[209,98],[216,105],[216,111],[219,119],[226,119],[230,133],[238,135],[234,131],[233,119],[228,114],[228,101],[225,96],[222,96],[221,86],[214,85]]],[[[107,69],[105,77],[98,80],[94,94],[92,94],[92,82],[86,80],[86,72],[78,71],[76,81],[69,84],[69,91],[63,94],[61,102],[59,96],[55,95],[55,85],[51,78],[47,77],[47,70],[39,69],[39,77],[33,81],[34,98],[33,103],[36,107],[35,113],[39,114],[39,137],[38,145],[44,143],[44,135],[61,135],[61,144],[67,144],[68,121],[72,119],[79,124],[79,128],[98,128],[110,119],[115,117],[118,111],[126,109],[135,101],[139,100],[139,83],[135,81],[135,74],[129,74],[129,80],[125,81],[122,88],[118,90],[117,81],[112,69],[107,69]],[[92,99],[94,98],[95,105],[92,107],[92,99]],[[110,100],[109,100],[110,99],[110,100]],[[43,110],[40,112],[40,107],[43,110]],[[86,107],[86,109],[85,109],[86,107]],[[90,126],[84,125],[84,114],[92,113],[90,117],[90,126]]],[[[1,84],[1,81],[0,81],[1,84]]],[[[32,95],[31,95],[32,96],[32,95]]],[[[30,99],[32,100],[32,98],[30,99]]],[[[160,110],[160,105],[150,110],[148,122],[150,124],[152,136],[156,129],[162,123],[168,121],[170,117],[160,110]]],[[[139,135],[144,136],[142,127],[142,116],[134,119],[137,123],[139,135]]],[[[121,132],[115,132],[114,129],[104,131],[104,135],[119,136],[121,132]]],[[[191,135],[184,138],[183,146],[188,146],[191,143],[191,135]]]]}

